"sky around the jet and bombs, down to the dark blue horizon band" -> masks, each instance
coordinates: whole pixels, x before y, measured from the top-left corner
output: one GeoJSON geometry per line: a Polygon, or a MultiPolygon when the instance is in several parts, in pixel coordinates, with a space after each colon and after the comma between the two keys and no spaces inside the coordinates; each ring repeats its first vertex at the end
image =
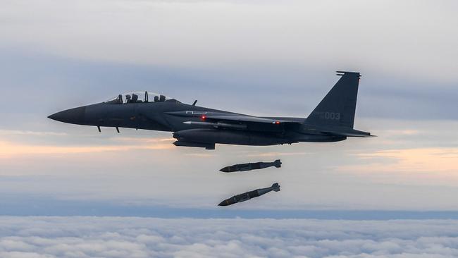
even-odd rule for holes
{"type": "Polygon", "coordinates": [[[17,205],[1,213],[35,215],[31,202],[49,204],[48,215],[62,202],[225,212],[215,207],[221,199],[274,182],[280,192],[235,211],[458,211],[457,8],[456,1],[3,1],[0,202],[17,205]],[[175,147],[171,133],[98,133],[47,118],[135,90],[307,117],[338,80],[335,70],[361,72],[355,128],[378,137],[207,151],[175,147]],[[274,159],[283,167],[218,172],[274,159]]]}

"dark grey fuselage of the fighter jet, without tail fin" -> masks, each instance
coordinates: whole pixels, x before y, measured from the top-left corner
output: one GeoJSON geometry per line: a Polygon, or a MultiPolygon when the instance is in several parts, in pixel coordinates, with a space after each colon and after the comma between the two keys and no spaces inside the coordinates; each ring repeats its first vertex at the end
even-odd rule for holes
{"type": "MultiPolygon", "coordinates": [[[[265,125],[247,123],[245,130],[194,125],[205,119],[202,116],[241,115],[202,106],[183,104],[175,99],[165,102],[99,103],[68,109],[49,116],[56,121],[99,127],[135,128],[175,132],[186,142],[222,143],[234,145],[279,145],[293,142],[335,142],[345,137],[326,135],[309,130],[304,118],[269,117],[276,120],[293,120],[300,124],[265,125]],[[182,133],[180,133],[182,132],[182,133]]],[[[243,115],[246,116],[246,115],[243,115]]],[[[232,123],[233,125],[237,125],[232,123]]],[[[185,145],[186,146],[186,145],[185,145]]]]}

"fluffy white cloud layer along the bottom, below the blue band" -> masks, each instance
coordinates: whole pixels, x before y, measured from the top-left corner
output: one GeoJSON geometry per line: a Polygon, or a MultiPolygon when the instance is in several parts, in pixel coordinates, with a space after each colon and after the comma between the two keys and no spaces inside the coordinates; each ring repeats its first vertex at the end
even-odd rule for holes
{"type": "Polygon", "coordinates": [[[458,221],[0,217],[0,257],[457,257],[458,221]]]}

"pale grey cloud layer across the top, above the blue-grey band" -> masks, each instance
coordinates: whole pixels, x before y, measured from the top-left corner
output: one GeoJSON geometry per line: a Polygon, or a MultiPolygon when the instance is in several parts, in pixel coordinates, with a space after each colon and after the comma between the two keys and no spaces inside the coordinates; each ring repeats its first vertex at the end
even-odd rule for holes
{"type": "Polygon", "coordinates": [[[7,1],[2,45],[161,66],[366,68],[457,79],[456,1],[7,1]]]}

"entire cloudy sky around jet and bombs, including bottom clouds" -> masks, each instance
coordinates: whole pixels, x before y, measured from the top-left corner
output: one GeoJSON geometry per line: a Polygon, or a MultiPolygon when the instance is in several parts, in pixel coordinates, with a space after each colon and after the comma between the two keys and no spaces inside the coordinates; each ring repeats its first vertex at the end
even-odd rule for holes
{"type": "Polygon", "coordinates": [[[457,9],[2,0],[0,257],[457,257],[457,9]],[[361,73],[355,129],[378,137],[210,151],[47,118],[138,90],[303,118],[336,70],[361,73]]]}

